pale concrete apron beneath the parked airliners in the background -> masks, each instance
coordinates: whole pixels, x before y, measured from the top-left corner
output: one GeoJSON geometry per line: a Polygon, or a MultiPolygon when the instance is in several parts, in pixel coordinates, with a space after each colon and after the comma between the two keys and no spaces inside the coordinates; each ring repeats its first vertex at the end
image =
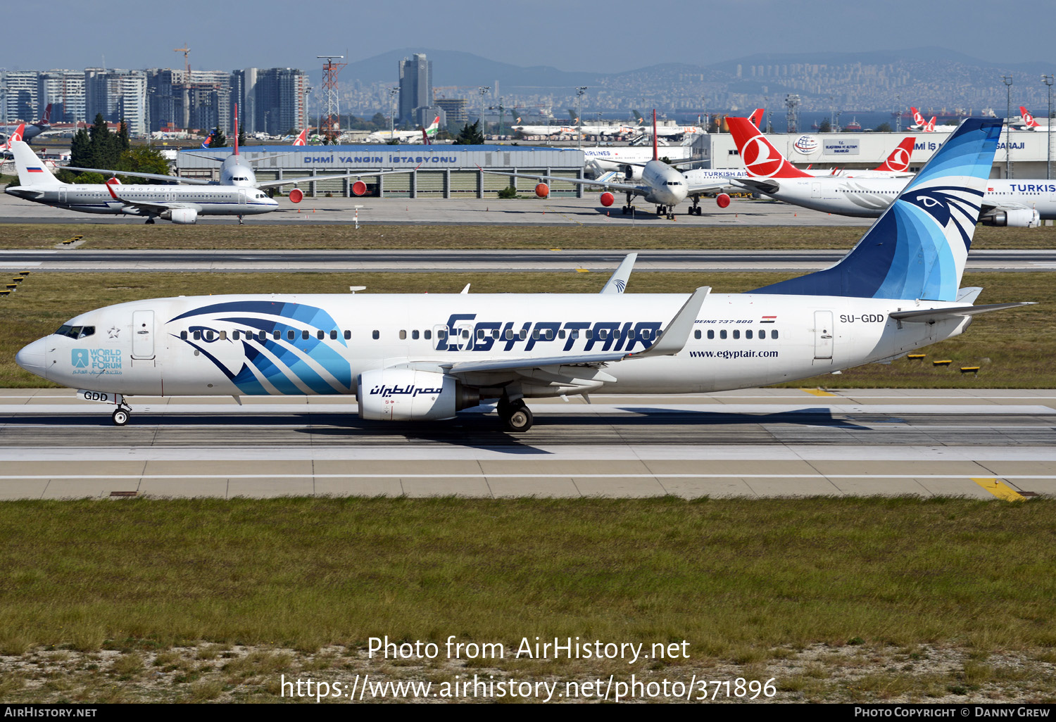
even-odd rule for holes
{"type": "MultiPolygon", "coordinates": [[[[530,192],[529,192],[530,194],[530,192]]],[[[360,224],[453,224],[469,226],[576,226],[604,224],[645,224],[659,226],[672,223],[693,226],[869,226],[871,218],[829,215],[776,201],[734,200],[720,209],[714,201],[701,201],[701,215],[689,215],[689,203],[677,209],[677,218],[667,221],[649,210],[655,206],[638,203],[639,212],[624,215],[619,207],[605,208],[598,193],[583,198],[535,198],[516,201],[497,198],[309,198],[293,204],[288,198],[276,198],[279,210],[246,218],[247,226],[337,223],[355,225],[358,211],[360,224]],[[357,208],[357,206],[359,208],[357,208]]],[[[78,213],[31,203],[13,195],[0,194],[0,223],[76,223],[76,224],[138,224],[144,220],[129,215],[96,215],[78,213]]],[[[167,223],[159,221],[158,223],[167,223]]],[[[204,216],[200,224],[238,224],[234,216],[204,216]]]]}

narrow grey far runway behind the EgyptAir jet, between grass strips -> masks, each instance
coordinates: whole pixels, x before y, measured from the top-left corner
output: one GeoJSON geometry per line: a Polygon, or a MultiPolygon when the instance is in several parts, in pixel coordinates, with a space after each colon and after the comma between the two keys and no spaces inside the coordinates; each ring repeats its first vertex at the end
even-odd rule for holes
{"type": "MultiPolygon", "coordinates": [[[[118,272],[509,272],[611,271],[627,254],[617,250],[55,250],[0,251],[11,270],[118,272]]],[[[832,265],[843,250],[646,250],[636,272],[809,271],[832,265]]],[[[1056,269],[1056,250],[976,250],[970,271],[1056,269]]]]}

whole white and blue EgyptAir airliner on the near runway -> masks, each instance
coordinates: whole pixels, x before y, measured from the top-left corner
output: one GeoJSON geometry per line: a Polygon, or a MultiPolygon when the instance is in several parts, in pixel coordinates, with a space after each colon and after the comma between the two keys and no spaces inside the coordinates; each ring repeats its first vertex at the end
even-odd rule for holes
{"type": "Polygon", "coordinates": [[[1000,120],[969,118],[836,265],[748,293],[259,294],[150,299],[76,316],[18,352],[128,422],[130,396],[356,397],[359,416],[434,421],[494,401],[701,393],[888,361],[961,334],[959,288],[1000,120]]]}

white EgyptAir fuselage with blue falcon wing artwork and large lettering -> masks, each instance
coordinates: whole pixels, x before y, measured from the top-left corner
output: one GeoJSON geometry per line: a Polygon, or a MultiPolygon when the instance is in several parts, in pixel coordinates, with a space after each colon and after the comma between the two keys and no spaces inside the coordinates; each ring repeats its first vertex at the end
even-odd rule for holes
{"type": "MultiPolygon", "coordinates": [[[[417,364],[643,350],[684,294],[305,294],[154,299],[82,314],[65,335],[18,354],[20,366],[74,388],[126,395],[355,394],[370,370],[417,364]],[[247,336],[248,335],[248,336],[247,336]]],[[[967,319],[903,323],[888,314],[955,303],[712,294],[675,356],[603,368],[479,372],[482,390],[526,398],[699,393],[830,373],[956,336],[967,319]]],[[[530,366],[530,364],[528,364],[530,366]]],[[[482,398],[488,398],[482,394],[482,398]]]]}

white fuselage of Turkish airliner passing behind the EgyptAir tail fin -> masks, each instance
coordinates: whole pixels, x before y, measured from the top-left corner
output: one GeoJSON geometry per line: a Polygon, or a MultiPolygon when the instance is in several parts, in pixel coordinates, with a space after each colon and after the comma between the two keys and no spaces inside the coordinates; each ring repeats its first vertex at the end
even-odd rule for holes
{"type": "MultiPolygon", "coordinates": [[[[778,188],[767,191],[767,195],[826,213],[875,218],[899,197],[909,180],[906,177],[774,178],[778,188]]],[[[1036,208],[1042,220],[1056,218],[1056,180],[992,178],[983,203],[1022,204],[1036,208]]]]}

